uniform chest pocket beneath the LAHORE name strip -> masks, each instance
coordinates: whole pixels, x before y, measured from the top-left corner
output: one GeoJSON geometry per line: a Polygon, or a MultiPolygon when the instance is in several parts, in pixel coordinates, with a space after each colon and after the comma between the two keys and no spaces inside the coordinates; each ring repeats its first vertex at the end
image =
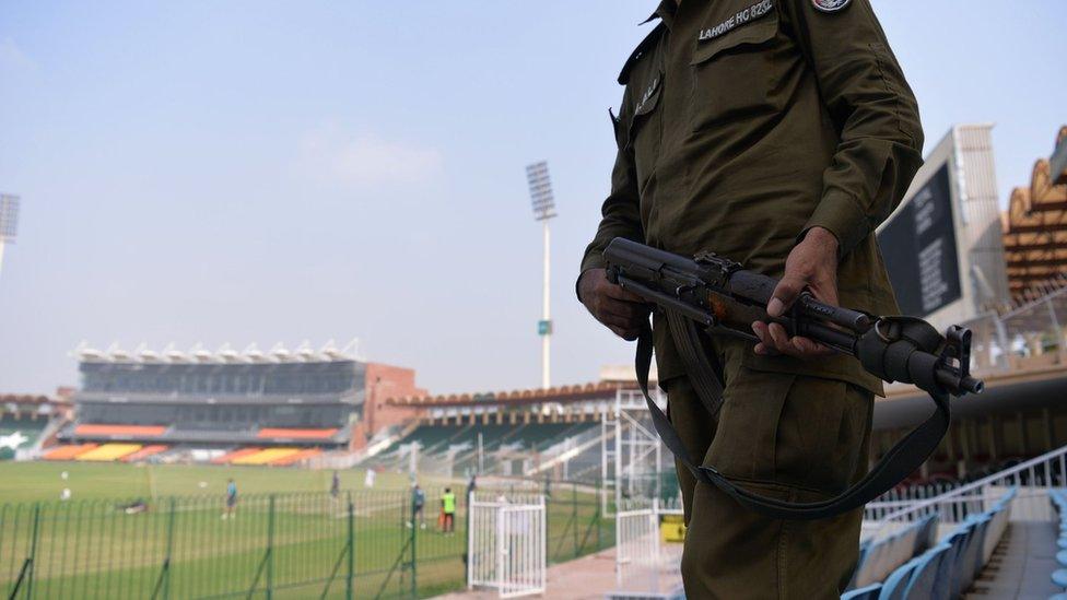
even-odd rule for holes
{"type": "Polygon", "coordinates": [[[694,131],[779,108],[774,97],[777,12],[772,9],[755,21],[722,32],[717,20],[703,26],[690,63],[694,131]]]}

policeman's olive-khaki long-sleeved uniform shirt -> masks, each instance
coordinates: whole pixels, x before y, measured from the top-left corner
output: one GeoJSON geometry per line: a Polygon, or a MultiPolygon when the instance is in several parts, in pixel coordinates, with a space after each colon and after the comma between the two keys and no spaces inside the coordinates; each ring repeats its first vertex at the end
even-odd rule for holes
{"type": "MultiPolygon", "coordinates": [[[[871,234],[921,166],[923,132],[868,0],[665,0],[655,19],[619,77],[611,195],[582,271],[621,236],[781,277],[818,225],[840,243],[841,305],[896,313],[871,234]]],[[[684,374],[666,319],[654,329],[660,380],[684,374]]],[[[847,356],[743,361],[881,393],[847,356]]]]}

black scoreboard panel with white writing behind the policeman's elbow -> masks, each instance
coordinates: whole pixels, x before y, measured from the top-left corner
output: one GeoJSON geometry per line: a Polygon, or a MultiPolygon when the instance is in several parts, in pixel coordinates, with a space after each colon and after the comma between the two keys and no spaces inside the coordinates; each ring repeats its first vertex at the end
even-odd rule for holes
{"type": "Polygon", "coordinates": [[[878,245],[904,315],[925,317],[960,298],[947,164],[879,232],[878,245]]]}

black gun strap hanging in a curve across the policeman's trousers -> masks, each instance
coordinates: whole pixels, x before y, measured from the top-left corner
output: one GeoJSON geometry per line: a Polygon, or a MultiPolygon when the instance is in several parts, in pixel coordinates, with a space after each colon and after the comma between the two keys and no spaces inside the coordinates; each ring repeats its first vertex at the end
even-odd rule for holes
{"type": "Polygon", "coordinates": [[[637,353],[635,366],[637,383],[645,395],[645,402],[652,414],[656,432],[664,444],[675,454],[685,467],[693,472],[697,481],[708,483],[722,490],[739,504],[775,519],[810,520],[822,519],[847,513],[867,504],[894,487],[907,475],[918,469],[923,462],[937,449],[941,438],[949,427],[949,397],[947,393],[930,393],[935,410],[926,421],[915,427],[903,439],[896,443],[878,461],[877,464],[861,480],[835,497],[813,503],[792,503],[753,494],[740,487],[714,467],[695,462],[678,432],[670,424],[667,415],[648,395],[648,369],[652,366],[653,339],[652,328],[645,325],[637,338],[637,353]]]}

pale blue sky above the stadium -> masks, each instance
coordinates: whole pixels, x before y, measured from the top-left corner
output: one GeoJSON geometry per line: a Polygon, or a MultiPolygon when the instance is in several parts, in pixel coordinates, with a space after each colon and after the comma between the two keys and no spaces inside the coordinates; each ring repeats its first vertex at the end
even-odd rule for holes
{"type": "MultiPolygon", "coordinates": [[[[0,391],[69,352],[360,338],[432,391],[539,383],[548,160],[554,383],[632,348],[573,296],[607,108],[654,1],[0,1],[0,391]]],[[[1067,2],[876,0],[927,148],[996,123],[1004,202],[1067,122],[1067,2]]]]}

